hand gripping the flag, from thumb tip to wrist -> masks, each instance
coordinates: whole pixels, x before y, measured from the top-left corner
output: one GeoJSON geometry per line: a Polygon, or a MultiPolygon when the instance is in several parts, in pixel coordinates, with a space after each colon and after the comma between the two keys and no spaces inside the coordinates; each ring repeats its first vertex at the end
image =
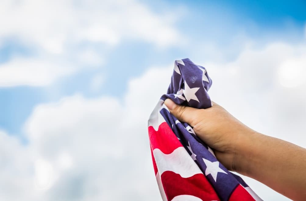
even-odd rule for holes
{"type": "Polygon", "coordinates": [[[245,140],[256,135],[255,131],[215,102],[207,109],[180,106],[171,99],[166,99],[165,105],[178,120],[193,127],[196,135],[214,149],[216,157],[227,169],[241,173],[247,171],[247,166],[241,165],[240,153],[245,147],[245,140]]]}

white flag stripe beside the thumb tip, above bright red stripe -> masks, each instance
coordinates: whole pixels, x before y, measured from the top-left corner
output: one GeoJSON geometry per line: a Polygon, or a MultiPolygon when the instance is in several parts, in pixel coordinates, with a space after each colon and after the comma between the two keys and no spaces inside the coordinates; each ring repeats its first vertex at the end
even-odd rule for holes
{"type": "Polygon", "coordinates": [[[158,130],[159,125],[161,125],[163,122],[166,122],[164,117],[162,117],[162,114],[160,114],[160,110],[162,108],[166,108],[168,110],[168,108],[164,104],[164,101],[160,99],[157,105],[155,106],[154,110],[152,111],[148,120],[148,127],[153,126],[155,131],[158,130]]]}

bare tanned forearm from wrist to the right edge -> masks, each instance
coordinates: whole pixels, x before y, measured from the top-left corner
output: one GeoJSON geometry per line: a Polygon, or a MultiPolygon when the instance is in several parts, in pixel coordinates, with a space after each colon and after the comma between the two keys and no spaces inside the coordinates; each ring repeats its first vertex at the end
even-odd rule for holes
{"type": "Polygon", "coordinates": [[[294,200],[306,199],[306,149],[250,132],[237,147],[236,171],[294,200]]]}

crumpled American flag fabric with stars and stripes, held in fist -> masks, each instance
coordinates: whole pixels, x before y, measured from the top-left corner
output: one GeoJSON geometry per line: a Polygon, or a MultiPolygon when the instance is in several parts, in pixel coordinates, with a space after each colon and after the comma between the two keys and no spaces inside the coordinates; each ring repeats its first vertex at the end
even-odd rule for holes
{"type": "Polygon", "coordinates": [[[261,200],[241,177],[228,171],[192,127],[178,121],[164,100],[195,108],[212,106],[212,80],[190,59],[174,62],[171,83],[148,120],[155,176],[163,201],[261,200]]]}

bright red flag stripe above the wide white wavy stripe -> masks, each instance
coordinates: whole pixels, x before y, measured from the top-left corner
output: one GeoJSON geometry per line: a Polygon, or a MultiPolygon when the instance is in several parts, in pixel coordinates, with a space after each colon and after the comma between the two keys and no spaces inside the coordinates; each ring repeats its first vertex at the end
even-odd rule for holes
{"type": "Polygon", "coordinates": [[[158,131],[153,126],[148,127],[151,150],[160,149],[164,154],[171,154],[177,147],[182,147],[167,122],[159,125],[158,131]]]}

